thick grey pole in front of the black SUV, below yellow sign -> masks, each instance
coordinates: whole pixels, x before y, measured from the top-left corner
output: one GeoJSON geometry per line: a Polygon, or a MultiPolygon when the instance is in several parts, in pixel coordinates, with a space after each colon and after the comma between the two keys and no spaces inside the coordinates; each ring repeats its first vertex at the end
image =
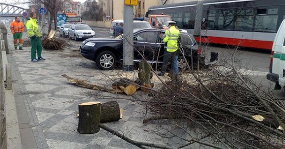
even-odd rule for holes
{"type": "Polygon", "coordinates": [[[124,5],[124,71],[133,71],[133,6],[124,5]]]}

